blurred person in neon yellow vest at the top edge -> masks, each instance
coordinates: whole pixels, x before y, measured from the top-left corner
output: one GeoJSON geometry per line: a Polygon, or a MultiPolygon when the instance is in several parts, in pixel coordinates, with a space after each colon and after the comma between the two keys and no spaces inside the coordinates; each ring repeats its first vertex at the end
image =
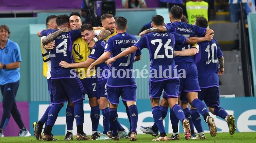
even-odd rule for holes
{"type": "Polygon", "coordinates": [[[197,17],[204,17],[208,21],[208,3],[203,0],[191,0],[186,3],[188,23],[194,24],[197,17]]]}

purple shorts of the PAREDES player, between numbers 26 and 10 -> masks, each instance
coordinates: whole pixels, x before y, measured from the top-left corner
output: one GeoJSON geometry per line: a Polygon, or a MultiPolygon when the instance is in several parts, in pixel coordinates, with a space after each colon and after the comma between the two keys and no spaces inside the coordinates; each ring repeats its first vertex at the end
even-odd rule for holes
{"type": "Polygon", "coordinates": [[[195,63],[177,63],[178,75],[180,77],[180,89],[181,92],[198,92],[201,91],[198,82],[197,65],[195,63]],[[184,73],[184,70],[186,73],[184,73]],[[184,73],[184,74],[181,74],[184,73]],[[185,75],[185,77],[184,77],[185,75]]]}

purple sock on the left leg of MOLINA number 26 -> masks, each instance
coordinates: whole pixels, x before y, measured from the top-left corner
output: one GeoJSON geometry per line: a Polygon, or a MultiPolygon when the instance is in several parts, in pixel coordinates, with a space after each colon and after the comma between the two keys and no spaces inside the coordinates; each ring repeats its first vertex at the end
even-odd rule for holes
{"type": "Polygon", "coordinates": [[[161,114],[161,110],[159,106],[154,106],[152,108],[152,114],[153,114],[153,118],[154,121],[159,129],[160,133],[165,133],[165,128],[164,128],[164,124],[163,124],[163,117],[161,114]]]}

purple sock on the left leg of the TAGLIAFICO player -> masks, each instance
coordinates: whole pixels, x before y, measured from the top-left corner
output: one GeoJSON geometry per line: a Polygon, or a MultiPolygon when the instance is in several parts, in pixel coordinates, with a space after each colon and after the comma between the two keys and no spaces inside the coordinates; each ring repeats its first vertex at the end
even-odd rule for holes
{"type": "Polygon", "coordinates": [[[116,108],[109,108],[109,123],[110,123],[110,127],[112,129],[112,135],[117,136],[117,119],[118,119],[118,115],[117,115],[117,109],[116,108]]]}

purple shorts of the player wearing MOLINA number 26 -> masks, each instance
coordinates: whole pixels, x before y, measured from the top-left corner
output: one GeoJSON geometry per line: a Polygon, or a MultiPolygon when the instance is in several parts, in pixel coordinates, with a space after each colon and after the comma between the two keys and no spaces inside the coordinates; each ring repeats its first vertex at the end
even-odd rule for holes
{"type": "Polygon", "coordinates": [[[160,98],[163,90],[166,96],[171,98],[178,98],[178,91],[180,87],[180,80],[178,78],[167,79],[163,81],[149,80],[149,95],[150,98],[160,98]]]}

